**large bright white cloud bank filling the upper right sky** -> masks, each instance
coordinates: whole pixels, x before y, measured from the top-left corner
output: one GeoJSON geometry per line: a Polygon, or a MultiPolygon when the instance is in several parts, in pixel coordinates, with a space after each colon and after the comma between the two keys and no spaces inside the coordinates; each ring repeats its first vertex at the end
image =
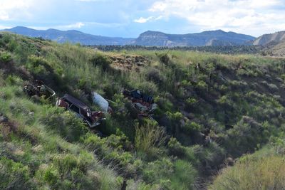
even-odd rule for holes
{"type": "Polygon", "coordinates": [[[284,0],[164,0],[155,1],[148,11],[165,18],[187,19],[202,30],[220,28],[258,36],[285,29],[281,28],[284,9],[280,9],[284,6],[284,0]]]}

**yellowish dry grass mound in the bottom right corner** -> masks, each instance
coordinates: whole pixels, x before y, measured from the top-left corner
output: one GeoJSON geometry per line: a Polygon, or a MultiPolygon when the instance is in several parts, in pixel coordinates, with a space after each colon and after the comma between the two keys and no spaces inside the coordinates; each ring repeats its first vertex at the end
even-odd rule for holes
{"type": "Polygon", "coordinates": [[[284,157],[246,160],[224,169],[209,189],[285,189],[284,171],[284,157]]]}

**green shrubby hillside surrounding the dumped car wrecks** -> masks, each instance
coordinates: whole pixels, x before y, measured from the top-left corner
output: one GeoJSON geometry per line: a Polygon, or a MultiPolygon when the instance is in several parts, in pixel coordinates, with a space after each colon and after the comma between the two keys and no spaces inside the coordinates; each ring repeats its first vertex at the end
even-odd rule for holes
{"type": "Polygon", "coordinates": [[[124,179],[127,189],[205,188],[233,159],[282,139],[284,66],[249,55],[103,53],[2,33],[0,189],[120,189],[124,179]],[[98,127],[107,137],[53,100],[28,97],[23,86],[36,79],[93,110],[92,91],[111,100],[98,127]],[[135,88],[155,97],[155,120],[138,120],[123,97],[135,88]]]}

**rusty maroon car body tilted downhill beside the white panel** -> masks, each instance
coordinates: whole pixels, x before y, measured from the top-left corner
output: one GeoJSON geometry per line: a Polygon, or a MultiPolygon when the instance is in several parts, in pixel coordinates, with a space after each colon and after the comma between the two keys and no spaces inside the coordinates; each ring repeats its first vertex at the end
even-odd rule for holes
{"type": "Polygon", "coordinates": [[[71,95],[64,95],[56,101],[57,107],[64,107],[66,110],[76,112],[78,117],[81,117],[90,128],[100,125],[105,119],[103,112],[91,112],[90,108],[71,95]]]}

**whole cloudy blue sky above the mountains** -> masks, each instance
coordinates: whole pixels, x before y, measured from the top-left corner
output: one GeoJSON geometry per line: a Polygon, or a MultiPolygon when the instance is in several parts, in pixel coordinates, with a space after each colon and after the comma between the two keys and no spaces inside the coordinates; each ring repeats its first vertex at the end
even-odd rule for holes
{"type": "Polygon", "coordinates": [[[218,29],[258,37],[285,31],[285,0],[0,0],[0,29],[14,26],[132,38],[218,29]]]}

